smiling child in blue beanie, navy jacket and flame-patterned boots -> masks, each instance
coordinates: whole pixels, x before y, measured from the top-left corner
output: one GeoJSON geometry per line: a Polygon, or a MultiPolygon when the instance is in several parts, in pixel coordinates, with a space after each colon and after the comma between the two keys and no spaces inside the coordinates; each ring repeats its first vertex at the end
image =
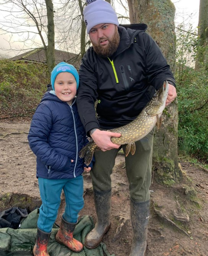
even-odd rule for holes
{"type": "Polygon", "coordinates": [[[49,256],[47,244],[62,189],[66,206],[55,239],[72,251],[83,249],[83,244],[73,238],[73,231],[84,206],[82,173],[92,167],[92,163],[86,167],[78,156],[88,142],[76,106],[78,72],[72,65],[61,62],[51,73],[51,84],[53,91],[44,94],[28,135],[29,146],[37,157],[36,176],[42,200],[34,256],[49,256]]]}

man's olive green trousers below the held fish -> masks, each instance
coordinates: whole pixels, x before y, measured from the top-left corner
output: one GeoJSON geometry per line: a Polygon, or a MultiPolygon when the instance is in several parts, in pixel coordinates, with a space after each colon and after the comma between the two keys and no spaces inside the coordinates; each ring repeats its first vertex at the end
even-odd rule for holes
{"type": "MultiPolygon", "coordinates": [[[[150,199],[153,134],[154,129],[143,139],[135,142],[135,154],[132,155],[130,152],[125,157],[130,197],[136,202],[144,202],[150,199]]],[[[125,153],[126,145],[122,145],[122,148],[125,153]]],[[[111,189],[110,175],[120,149],[94,152],[95,164],[90,172],[94,190],[107,191],[111,189]]]]}

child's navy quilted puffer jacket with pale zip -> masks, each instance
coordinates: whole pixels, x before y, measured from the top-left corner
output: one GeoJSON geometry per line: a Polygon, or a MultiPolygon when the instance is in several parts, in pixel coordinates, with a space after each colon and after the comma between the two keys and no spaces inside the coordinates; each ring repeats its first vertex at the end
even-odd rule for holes
{"type": "Polygon", "coordinates": [[[76,99],[70,106],[46,92],[31,121],[28,140],[37,157],[37,177],[74,178],[83,173],[86,165],[78,152],[88,140],[76,99]]]}

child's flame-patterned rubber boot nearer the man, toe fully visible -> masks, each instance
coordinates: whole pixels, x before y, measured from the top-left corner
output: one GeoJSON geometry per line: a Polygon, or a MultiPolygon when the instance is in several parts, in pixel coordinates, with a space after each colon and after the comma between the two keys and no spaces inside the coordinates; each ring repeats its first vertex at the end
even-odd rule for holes
{"type": "Polygon", "coordinates": [[[80,241],[73,238],[73,232],[75,230],[76,223],[70,223],[63,219],[61,220],[61,225],[59,228],[59,231],[57,232],[55,236],[55,240],[60,243],[67,246],[71,251],[74,251],[76,253],[79,253],[83,250],[83,244],[80,243],[80,241]]]}

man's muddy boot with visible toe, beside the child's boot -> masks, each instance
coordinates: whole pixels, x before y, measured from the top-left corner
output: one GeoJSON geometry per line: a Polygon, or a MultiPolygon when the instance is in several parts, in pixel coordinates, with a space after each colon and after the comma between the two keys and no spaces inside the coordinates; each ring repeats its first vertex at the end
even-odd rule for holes
{"type": "Polygon", "coordinates": [[[98,192],[94,190],[94,203],[97,223],[85,238],[85,246],[94,249],[101,243],[103,236],[110,228],[111,190],[98,192]]]}

